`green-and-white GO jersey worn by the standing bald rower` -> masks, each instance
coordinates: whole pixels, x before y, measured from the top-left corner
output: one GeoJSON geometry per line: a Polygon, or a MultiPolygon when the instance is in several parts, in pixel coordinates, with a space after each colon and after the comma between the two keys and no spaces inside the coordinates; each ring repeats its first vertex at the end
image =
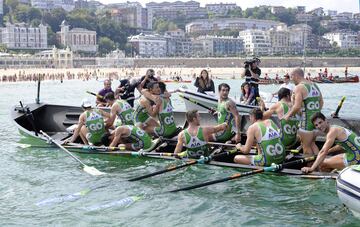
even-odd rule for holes
{"type": "Polygon", "coordinates": [[[320,112],[320,89],[315,83],[302,83],[308,92],[307,97],[303,100],[301,108],[301,122],[300,128],[312,131],[315,129],[314,124],[311,122],[311,117],[314,113],[320,112]]]}

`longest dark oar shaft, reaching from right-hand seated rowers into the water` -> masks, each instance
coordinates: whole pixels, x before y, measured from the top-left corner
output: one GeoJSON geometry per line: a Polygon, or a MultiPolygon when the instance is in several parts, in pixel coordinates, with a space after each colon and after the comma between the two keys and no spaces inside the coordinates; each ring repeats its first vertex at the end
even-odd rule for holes
{"type": "Polygon", "coordinates": [[[195,188],[201,188],[201,187],[205,187],[205,186],[208,186],[208,185],[217,184],[217,183],[221,183],[221,182],[225,182],[225,181],[229,181],[229,180],[234,180],[234,179],[237,179],[237,178],[240,178],[240,177],[254,175],[254,174],[257,174],[257,173],[279,171],[282,168],[291,167],[291,166],[294,166],[294,165],[297,165],[297,164],[302,164],[302,163],[306,163],[306,162],[310,162],[310,161],[314,161],[314,160],[315,160],[315,156],[312,156],[312,157],[308,157],[308,158],[302,158],[302,159],[299,159],[299,160],[287,162],[287,163],[284,163],[284,164],[278,164],[278,165],[274,164],[274,165],[271,165],[269,167],[264,167],[264,168],[261,168],[261,169],[256,169],[256,170],[243,172],[243,173],[236,173],[236,174],[233,174],[233,175],[231,175],[229,177],[221,178],[221,179],[218,179],[218,180],[207,181],[207,182],[204,182],[204,183],[191,185],[191,186],[187,186],[187,187],[183,187],[183,188],[179,188],[179,189],[174,189],[174,190],[171,190],[169,192],[187,191],[187,190],[191,190],[191,189],[195,189],[195,188]]]}

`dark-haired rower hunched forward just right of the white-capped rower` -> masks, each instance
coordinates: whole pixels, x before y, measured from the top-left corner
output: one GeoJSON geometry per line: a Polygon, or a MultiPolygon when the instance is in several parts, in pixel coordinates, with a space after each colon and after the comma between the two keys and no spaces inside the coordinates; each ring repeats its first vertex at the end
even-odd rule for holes
{"type": "Polygon", "coordinates": [[[130,104],[122,99],[115,100],[114,93],[107,93],[104,97],[106,102],[111,106],[110,118],[107,126],[114,124],[116,116],[121,120],[123,125],[134,125],[134,110],[130,104]]]}

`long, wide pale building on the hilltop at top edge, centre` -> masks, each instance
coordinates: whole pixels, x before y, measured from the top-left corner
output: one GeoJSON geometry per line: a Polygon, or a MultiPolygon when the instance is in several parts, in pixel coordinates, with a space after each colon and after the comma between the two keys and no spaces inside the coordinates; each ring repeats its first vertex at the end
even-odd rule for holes
{"type": "Polygon", "coordinates": [[[155,18],[163,18],[166,20],[188,20],[197,18],[207,18],[207,10],[200,7],[199,2],[150,2],[146,4],[146,8],[155,18]]]}

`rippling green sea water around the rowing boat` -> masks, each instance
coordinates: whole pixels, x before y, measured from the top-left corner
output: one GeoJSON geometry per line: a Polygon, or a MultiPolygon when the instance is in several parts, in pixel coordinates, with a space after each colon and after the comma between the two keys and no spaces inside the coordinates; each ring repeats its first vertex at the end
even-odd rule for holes
{"type": "MultiPolygon", "coordinates": [[[[220,81],[217,81],[217,84],[220,81]]],[[[221,82],[224,82],[223,80],[221,82]]],[[[227,81],[240,87],[241,81],[227,81]]],[[[41,100],[79,105],[96,91],[96,81],[44,82],[41,100]]],[[[179,86],[169,85],[170,88],[179,86]]],[[[277,86],[263,86],[275,91],[277,86]]],[[[320,85],[325,112],[333,111],[342,95],[347,99],[342,115],[358,116],[359,84],[320,85]]],[[[232,91],[233,93],[235,91],[232,91]]],[[[334,180],[308,180],[259,174],[176,194],[170,189],[226,177],[237,170],[194,165],[138,182],[130,177],[162,169],[172,162],[100,155],[77,155],[87,165],[107,172],[94,177],[55,148],[20,148],[21,135],[11,122],[9,109],[36,97],[35,83],[0,84],[0,225],[22,226],[359,226],[359,220],[340,203],[334,180]],[[72,194],[89,187],[106,186],[72,202],[36,206],[44,199],[72,194]],[[145,196],[128,207],[87,211],[86,208],[128,196],[145,196]]],[[[92,97],[89,97],[92,98],[92,97]]],[[[174,97],[176,108],[184,108],[174,97]]],[[[180,161],[178,161],[180,163],[180,161]]]]}

